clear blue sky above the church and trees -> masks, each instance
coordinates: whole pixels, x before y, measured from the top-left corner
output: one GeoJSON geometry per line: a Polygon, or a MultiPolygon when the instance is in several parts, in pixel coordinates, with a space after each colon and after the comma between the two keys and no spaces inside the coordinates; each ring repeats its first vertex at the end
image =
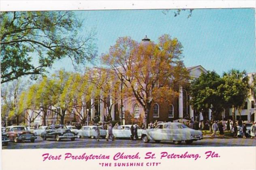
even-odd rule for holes
{"type": "MultiPolygon", "coordinates": [[[[174,10],[75,11],[83,21],[80,36],[88,30],[97,32],[98,54],[107,53],[118,37],[130,36],[141,41],[147,35],[157,42],[162,34],[176,37],[183,45],[185,66],[202,65],[218,74],[234,68],[256,72],[255,11],[253,8],[195,9],[192,16],[174,10]]],[[[99,61],[98,63],[99,65],[99,61]]],[[[50,72],[73,70],[69,60],[53,65],[50,72]]]]}

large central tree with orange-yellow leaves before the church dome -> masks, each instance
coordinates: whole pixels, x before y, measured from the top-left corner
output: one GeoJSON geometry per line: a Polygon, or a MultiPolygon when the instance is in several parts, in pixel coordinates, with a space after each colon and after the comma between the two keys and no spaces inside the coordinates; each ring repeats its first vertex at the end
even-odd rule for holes
{"type": "Polygon", "coordinates": [[[102,61],[141,104],[147,126],[152,103],[173,98],[178,87],[188,81],[188,72],[176,38],[165,34],[158,43],[144,40],[138,43],[130,37],[118,38],[102,61]]]}

